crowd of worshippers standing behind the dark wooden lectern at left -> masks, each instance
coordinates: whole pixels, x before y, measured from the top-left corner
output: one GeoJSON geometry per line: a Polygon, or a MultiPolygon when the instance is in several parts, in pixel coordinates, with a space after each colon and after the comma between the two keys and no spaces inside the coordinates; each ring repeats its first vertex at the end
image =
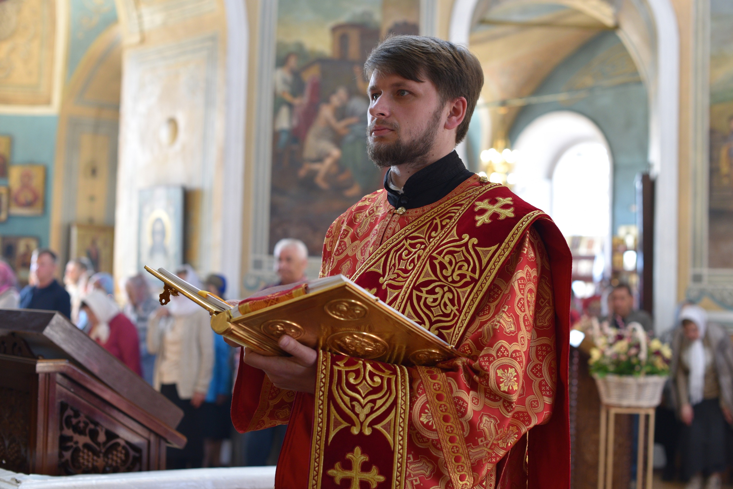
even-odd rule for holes
{"type": "MultiPolygon", "coordinates": [[[[308,250],[303,242],[282,239],[274,255],[279,281],[262,288],[306,280],[308,250]]],[[[207,310],[184,296],[173,296],[168,305],[160,305],[154,288],[162,285],[143,274],[119,284],[126,299],[120,305],[113,277],[95,271],[85,257],[66,264],[63,285],[56,278],[58,272],[54,251],[35,250],[29,284],[18,290],[15,272],[0,261],[0,308],[62,313],[181,408],[184,415],[177,430],[188,442],[183,449],[167,449],[168,469],[276,463],[285,426],[246,434],[232,426],[229,408],[240,348],[232,348],[212,331],[207,310]]],[[[197,288],[226,299],[223,275],[201,280],[188,264],[175,272],[197,288]]]]}

